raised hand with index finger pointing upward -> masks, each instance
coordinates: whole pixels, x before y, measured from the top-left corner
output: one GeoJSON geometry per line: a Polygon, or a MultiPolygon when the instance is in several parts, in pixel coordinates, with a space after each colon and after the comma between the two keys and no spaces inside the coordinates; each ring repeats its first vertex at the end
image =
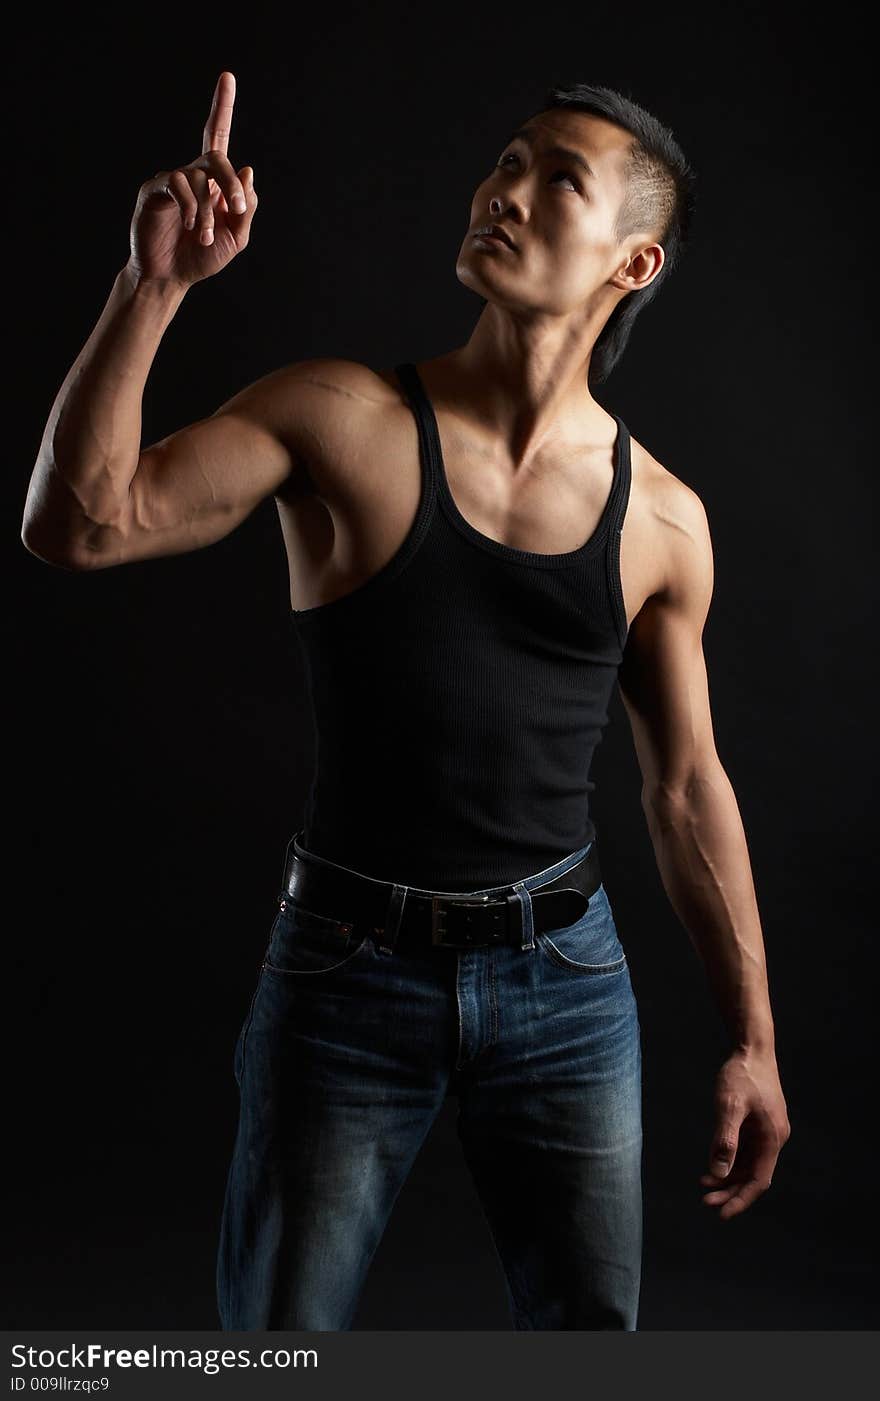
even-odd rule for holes
{"type": "Polygon", "coordinates": [[[247,248],[256,209],[254,171],[227,153],[235,77],[221,73],[202,134],[202,154],[144,181],[132,219],[128,270],[137,280],[192,286],[247,248]]]}

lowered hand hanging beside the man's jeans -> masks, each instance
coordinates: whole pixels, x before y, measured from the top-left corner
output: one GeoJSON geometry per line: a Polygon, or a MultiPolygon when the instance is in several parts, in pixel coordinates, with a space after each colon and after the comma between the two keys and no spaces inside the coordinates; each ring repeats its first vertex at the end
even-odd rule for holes
{"type": "Polygon", "coordinates": [[[715,1104],[709,1171],[701,1182],[712,1188],[703,1203],[720,1208],[719,1219],[727,1220],[747,1210],[771,1185],[776,1159],[792,1132],[772,1051],[730,1055],[717,1075],[715,1104]]]}

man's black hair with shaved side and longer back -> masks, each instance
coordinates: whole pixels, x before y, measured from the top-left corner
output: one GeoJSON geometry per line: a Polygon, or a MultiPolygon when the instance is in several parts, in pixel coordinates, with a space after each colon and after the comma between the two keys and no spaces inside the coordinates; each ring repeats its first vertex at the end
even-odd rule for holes
{"type": "Polygon", "coordinates": [[[654,280],[640,291],[628,293],[598,333],[590,356],[589,384],[600,384],[624,354],[639,311],[657,296],[689,244],[696,172],[671,130],[629,94],[587,83],[565,83],[548,88],[534,115],[552,108],[573,108],[604,116],[632,133],[633,142],[625,167],[626,192],[614,234],[622,242],[636,230],[645,230],[661,244],[666,255],[654,280]]]}

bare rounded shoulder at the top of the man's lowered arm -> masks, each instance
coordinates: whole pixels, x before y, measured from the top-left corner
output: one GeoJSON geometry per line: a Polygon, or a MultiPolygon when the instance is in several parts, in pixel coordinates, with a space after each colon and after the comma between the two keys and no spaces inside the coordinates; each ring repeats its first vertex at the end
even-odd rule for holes
{"type": "Polygon", "coordinates": [[[657,597],[708,609],[713,587],[712,534],[701,496],[632,440],[632,492],[657,560],[657,597]]]}

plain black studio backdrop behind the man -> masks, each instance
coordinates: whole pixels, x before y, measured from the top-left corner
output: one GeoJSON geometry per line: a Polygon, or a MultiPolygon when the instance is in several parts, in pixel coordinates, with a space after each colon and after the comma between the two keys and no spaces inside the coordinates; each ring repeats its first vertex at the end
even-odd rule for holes
{"type": "MultiPolygon", "coordinates": [[[[702,1205],[727,1042],[660,884],[615,693],[594,815],[643,1037],[640,1327],[870,1327],[873,228],[852,15],[388,4],[151,24],[129,39],[41,15],[7,48],[4,1327],[217,1327],[233,1048],[312,765],[275,503],[207,549],[88,577],[18,532],[137,188],[199,154],[227,67],[230,157],[261,203],[248,249],[165,333],[144,443],[291,360],[380,368],[464,343],[474,189],[552,81],[629,92],[696,168],[692,248],[596,396],[708,510],[715,730],[792,1138],[744,1216],[702,1205]]],[[[398,1198],[357,1328],[510,1325],[454,1110],[398,1198]]]]}

